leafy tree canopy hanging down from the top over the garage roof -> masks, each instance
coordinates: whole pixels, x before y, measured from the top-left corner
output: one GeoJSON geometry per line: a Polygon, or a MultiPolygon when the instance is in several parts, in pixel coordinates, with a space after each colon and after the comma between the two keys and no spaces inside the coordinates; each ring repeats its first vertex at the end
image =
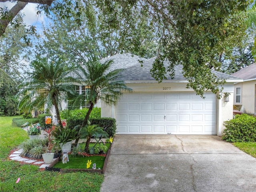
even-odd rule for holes
{"type": "MultiPolygon", "coordinates": [[[[81,25],[82,9],[88,8],[88,2],[90,1],[54,0],[51,6],[41,3],[46,12],[55,11],[62,18],[74,17],[81,25]],[[74,8],[71,6],[72,3],[74,8]]],[[[108,21],[106,28],[117,30],[121,26],[121,39],[125,37],[124,40],[132,44],[136,43],[136,39],[129,39],[126,34],[130,36],[129,32],[138,32],[133,14],[148,14],[146,26],[154,26],[154,33],[159,39],[158,56],[151,70],[152,76],[158,82],[166,78],[167,72],[171,72],[173,76],[174,66],[182,64],[184,76],[188,79],[188,88],[193,88],[196,94],[201,96],[205,90],[211,90],[220,96],[219,86],[225,81],[217,79],[210,68],[220,67],[220,62],[216,58],[223,54],[227,43],[225,40],[232,36],[236,27],[239,27],[235,16],[248,7],[249,1],[104,0],[94,1],[94,4],[96,11],[102,13],[102,19],[108,21]],[[163,65],[165,59],[169,60],[169,66],[163,65]]],[[[89,15],[94,17],[94,14],[89,15]]],[[[104,29],[104,26],[102,28],[104,29]]],[[[242,32],[241,28],[240,30],[242,32]]],[[[130,46],[126,51],[134,49],[130,46]]]]}

